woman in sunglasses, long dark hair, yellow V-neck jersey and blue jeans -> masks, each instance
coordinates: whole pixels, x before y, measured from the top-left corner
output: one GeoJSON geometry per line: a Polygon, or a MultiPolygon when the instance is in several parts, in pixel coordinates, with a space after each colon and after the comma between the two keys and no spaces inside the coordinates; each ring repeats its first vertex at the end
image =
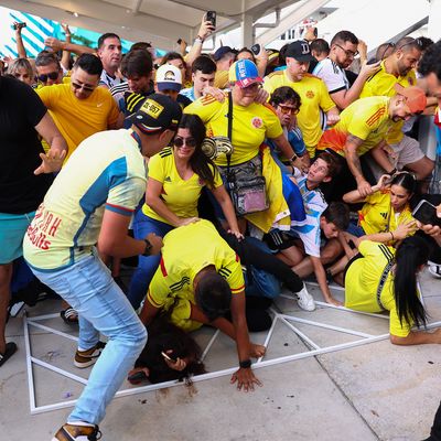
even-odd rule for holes
{"type": "MultiPolygon", "coordinates": [[[[243,237],[219,172],[201,149],[204,138],[205,126],[201,118],[184,115],[173,141],[174,147],[168,147],[150,159],[146,204],[133,222],[136,238],[142,239],[148,233],[164,236],[175,227],[196,222],[197,202],[204,186],[220,205],[229,232],[238,238],[243,237]]],[[[139,257],[128,293],[136,309],[147,294],[160,257],[139,257]]]]}

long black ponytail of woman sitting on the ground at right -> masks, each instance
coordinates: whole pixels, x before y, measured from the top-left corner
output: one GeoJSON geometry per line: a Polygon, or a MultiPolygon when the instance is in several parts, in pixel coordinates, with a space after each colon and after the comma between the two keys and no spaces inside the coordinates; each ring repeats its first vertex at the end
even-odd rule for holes
{"type": "Polygon", "coordinates": [[[427,313],[417,295],[417,272],[427,263],[429,248],[420,237],[407,237],[395,254],[394,295],[400,320],[411,325],[426,326],[427,313]]]}

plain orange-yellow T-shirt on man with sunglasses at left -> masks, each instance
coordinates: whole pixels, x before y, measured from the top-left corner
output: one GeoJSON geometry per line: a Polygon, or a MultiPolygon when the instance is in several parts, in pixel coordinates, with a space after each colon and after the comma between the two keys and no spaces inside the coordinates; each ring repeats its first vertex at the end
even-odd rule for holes
{"type": "Polygon", "coordinates": [[[118,120],[118,106],[104,87],[97,87],[86,99],[76,98],[69,84],[42,87],[36,93],[67,142],[65,162],[83,140],[118,120]]]}

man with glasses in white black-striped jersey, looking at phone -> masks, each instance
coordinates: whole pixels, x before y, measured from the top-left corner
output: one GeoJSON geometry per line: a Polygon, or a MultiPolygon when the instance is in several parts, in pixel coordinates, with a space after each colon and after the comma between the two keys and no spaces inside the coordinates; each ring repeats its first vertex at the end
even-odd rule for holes
{"type": "Polygon", "coordinates": [[[366,79],[379,68],[379,63],[364,64],[357,79],[351,86],[345,69],[358,54],[357,46],[358,39],[352,32],[337,32],[331,40],[330,54],[320,61],[312,72],[326,84],[332,100],[341,110],[359,97],[366,79]]]}

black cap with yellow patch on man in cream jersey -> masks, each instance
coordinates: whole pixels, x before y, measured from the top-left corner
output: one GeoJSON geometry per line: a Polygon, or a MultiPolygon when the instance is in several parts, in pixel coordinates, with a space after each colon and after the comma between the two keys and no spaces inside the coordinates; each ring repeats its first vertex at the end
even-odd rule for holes
{"type": "Polygon", "coordinates": [[[175,130],[182,117],[181,106],[166,95],[152,94],[135,106],[127,119],[144,133],[175,130]]]}

